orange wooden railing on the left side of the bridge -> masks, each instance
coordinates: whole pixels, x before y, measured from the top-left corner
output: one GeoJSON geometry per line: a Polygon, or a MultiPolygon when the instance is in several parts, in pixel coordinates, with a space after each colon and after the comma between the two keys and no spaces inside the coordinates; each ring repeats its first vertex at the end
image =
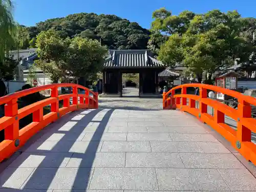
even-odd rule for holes
{"type": "Polygon", "coordinates": [[[0,131],[5,130],[5,140],[0,142],[0,162],[10,157],[28,139],[59,117],[77,109],[97,109],[98,93],[79,84],[54,83],[0,97],[0,105],[2,104],[5,104],[5,116],[0,118],[0,131]],[[71,87],[72,93],[58,95],[58,88],[62,87],[71,87]],[[84,94],[78,93],[78,88],[84,90],[84,94]],[[17,101],[19,98],[49,89],[51,90],[50,98],[18,109],[17,101]],[[90,96],[90,93],[93,97],[90,96]],[[73,98],[72,104],[70,104],[71,97],[73,98]],[[62,108],[59,108],[60,100],[63,100],[62,108]],[[49,104],[51,105],[51,112],[44,115],[43,108],[49,104]],[[30,114],[33,116],[33,122],[19,130],[19,120],[30,114]]]}

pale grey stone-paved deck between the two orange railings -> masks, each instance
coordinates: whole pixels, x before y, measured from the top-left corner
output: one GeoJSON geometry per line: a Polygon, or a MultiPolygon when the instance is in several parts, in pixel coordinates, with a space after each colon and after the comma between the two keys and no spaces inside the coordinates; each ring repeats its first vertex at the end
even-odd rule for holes
{"type": "Polygon", "coordinates": [[[67,114],[3,162],[0,191],[256,191],[222,141],[193,116],[162,110],[162,99],[102,98],[99,109],[67,114]]]}

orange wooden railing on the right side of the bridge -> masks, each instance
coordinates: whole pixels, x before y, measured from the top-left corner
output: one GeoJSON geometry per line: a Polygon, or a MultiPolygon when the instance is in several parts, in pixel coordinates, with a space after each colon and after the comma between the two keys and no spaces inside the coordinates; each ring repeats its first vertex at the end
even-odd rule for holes
{"type": "Polygon", "coordinates": [[[163,94],[163,109],[180,109],[196,116],[227,139],[245,159],[256,165],[256,145],[251,142],[251,132],[256,133],[256,119],[251,117],[253,105],[256,106],[256,99],[253,97],[201,83],[182,84],[163,94]],[[199,88],[199,95],[187,94],[187,88],[199,88]],[[175,91],[179,89],[181,94],[176,94],[175,91]],[[237,98],[238,109],[208,98],[207,90],[237,98]],[[199,108],[196,108],[196,101],[199,102],[199,108]],[[208,105],[212,107],[214,114],[208,114],[208,105]],[[225,123],[225,115],[237,121],[237,130],[225,123]]]}

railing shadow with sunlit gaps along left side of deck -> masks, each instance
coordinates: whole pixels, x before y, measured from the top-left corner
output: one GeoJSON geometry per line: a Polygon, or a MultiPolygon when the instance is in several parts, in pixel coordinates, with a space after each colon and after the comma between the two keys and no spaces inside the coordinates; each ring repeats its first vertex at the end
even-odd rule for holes
{"type": "Polygon", "coordinates": [[[75,112],[72,115],[68,114],[63,116],[62,120],[65,118],[65,122],[58,121],[46,127],[46,129],[42,131],[42,133],[45,134],[34,141],[32,145],[28,146],[25,153],[17,156],[16,160],[11,162],[10,166],[7,167],[3,173],[0,173],[0,191],[32,192],[37,191],[36,189],[40,189],[40,192],[48,192],[50,186],[51,188],[56,189],[65,188],[84,190],[88,188],[89,180],[93,173],[92,166],[95,154],[99,147],[106,124],[114,109],[104,111],[105,115],[101,121],[97,121],[99,125],[96,128],[91,141],[84,141],[81,143],[76,141],[84,131],[84,128],[87,127],[89,123],[93,123],[93,118],[102,111],[104,110],[97,109],[84,111],[89,113],[81,113],[81,111],[78,111],[79,113],[75,112]],[[67,123],[69,123],[71,127],[65,126],[67,123]],[[53,141],[54,139],[50,139],[53,135],[60,138],[55,138],[55,141],[53,141]],[[49,148],[50,145],[52,146],[49,148]],[[67,166],[67,159],[70,159],[71,157],[81,159],[80,165],[83,167],[75,166],[74,168],[69,167],[68,169],[65,169],[67,166]],[[32,159],[33,161],[31,161],[32,159]],[[30,164],[30,166],[25,166],[25,164],[30,164]],[[24,173],[20,173],[20,170],[16,173],[17,168],[20,167],[24,167],[24,173]],[[62,169],[59,169],[60,167],[62,169]],[[17,176],[17,174],[20,175],[17,176]],[[67,178],[65,178],[66,175],[68,175],[67,178]],[[28,177],[28,179],[27,181],[17,181],[17,183],[14,183],[13,177],[20,177],[21,180],[23,177],[28,177]],[[62,183],[56,181],[62,181],[62,183]],[[15,188],[13,186],[15,186],[15,188]]]}

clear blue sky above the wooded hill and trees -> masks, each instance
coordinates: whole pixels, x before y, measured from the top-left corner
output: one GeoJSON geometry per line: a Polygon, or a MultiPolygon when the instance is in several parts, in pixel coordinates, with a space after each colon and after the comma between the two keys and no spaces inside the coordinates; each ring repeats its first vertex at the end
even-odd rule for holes
{"type": "Polygon", "coordinates": [[[50,18],[73,13],[115,14],[150,28],[152,12],[161,7],[179,14],[189,10],[204,13],[212,9],[238,10],[243,17],[256,17],[256,0],[14,0],[15,20],[34,26],[50,18]]]}

